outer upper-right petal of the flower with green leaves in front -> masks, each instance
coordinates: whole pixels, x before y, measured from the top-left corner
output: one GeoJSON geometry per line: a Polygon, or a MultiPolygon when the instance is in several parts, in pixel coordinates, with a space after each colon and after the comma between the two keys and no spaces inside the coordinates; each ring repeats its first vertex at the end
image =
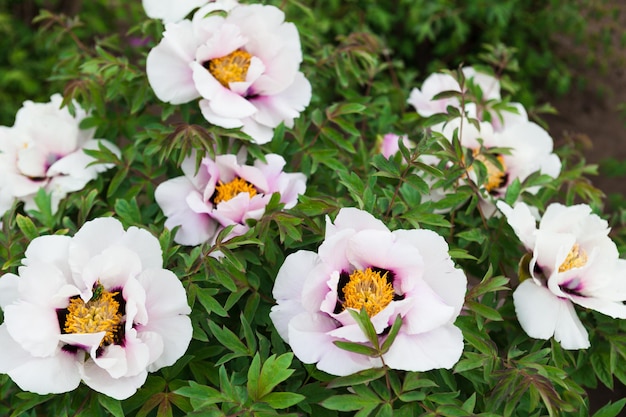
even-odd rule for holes
{"type": "Polygon", "coordinates": [[[395,230],[392,233],[398,242],[410,243],[419,250],[424,259],[422,280],[437,294],[437,298],[454,307],[456,317],[465,302],[467,277],[461,269],[455,268],[445,239],[426,229],[395,230]]]}

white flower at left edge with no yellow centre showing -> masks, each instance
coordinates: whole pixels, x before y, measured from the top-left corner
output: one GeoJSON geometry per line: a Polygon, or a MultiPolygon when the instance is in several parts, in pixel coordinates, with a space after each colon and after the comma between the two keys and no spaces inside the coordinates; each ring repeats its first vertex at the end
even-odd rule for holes
{"type": "Polygon", "coordinates": [[[51,195],[56,211],[68,193],[82,189],[110,164],[95,164],[83,149],[105,145],[116,154],[111,142],[93,139],[94,129],[80,129],[87,116],[74,103],[76,116],[61,108],[60,94],[49,103],[24,102],[13,127],[0,126],[0,213],[18,199],[27,210],[36,208],[34,197],[40,188],[51,195]]]}

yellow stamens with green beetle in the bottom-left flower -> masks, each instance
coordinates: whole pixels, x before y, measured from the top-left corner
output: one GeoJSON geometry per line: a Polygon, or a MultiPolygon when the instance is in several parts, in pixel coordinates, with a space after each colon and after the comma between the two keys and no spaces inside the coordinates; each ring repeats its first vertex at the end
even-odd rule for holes
{"type": "Polygon", "coordinates": [[[99,333],[106,332],[100,346],[115,342],[115,334],[122,322],[119,312],[120,304],[113,298],[116,292],[96,289],[96,294],[88,302],[76,297],[67,306],[67,317],[63,330],[65,333],[99,333]]]}

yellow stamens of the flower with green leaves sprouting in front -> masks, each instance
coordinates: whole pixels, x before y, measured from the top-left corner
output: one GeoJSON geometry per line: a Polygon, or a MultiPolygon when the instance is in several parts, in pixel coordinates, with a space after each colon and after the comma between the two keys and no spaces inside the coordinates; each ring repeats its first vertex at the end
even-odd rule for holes
{"type": "Polygon", "coordinates": [[[374,317],[393,300],[393,286],[387,281],[387,273],[367,268],[354,271],[350,281],[343,287],[344,307],[360,310],[365,307],[367,315],[374,317]]]}

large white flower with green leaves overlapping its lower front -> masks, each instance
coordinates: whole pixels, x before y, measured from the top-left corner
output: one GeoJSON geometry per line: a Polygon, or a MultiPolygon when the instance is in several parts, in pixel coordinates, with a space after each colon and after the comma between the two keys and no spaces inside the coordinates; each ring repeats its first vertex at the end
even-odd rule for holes
{"type": "Polygon", "coordinates": [[[344,208],[317,253],[299,251],[278,272],[270,317],[304,363],[347,375],[382,366],[380,358],[351,353],[335,341],[366,343],[348,309],[365,308],[379,338],[397,315],[402,326],[386,365],[426,371],[451,368],[463,351],[454,321],[467,280],[448,255],[445,240],[429,230],[389,231],[369,213],[344,208]]]}

